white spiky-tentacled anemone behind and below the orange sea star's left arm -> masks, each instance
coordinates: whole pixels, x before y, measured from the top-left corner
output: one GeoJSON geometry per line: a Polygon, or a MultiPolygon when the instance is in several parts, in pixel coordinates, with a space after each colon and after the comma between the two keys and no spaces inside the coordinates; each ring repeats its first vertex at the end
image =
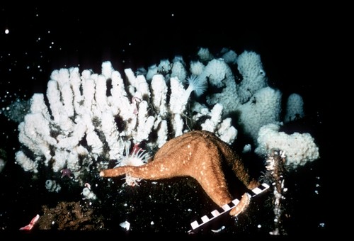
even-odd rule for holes
{"type": "MultiPolygon", "coordinates": [[[[147,160],[150,158],[149,152],[146,152],[145,150],[142,150],[142,148],[134,148],[132,152],[129,152],[129,147],[125,148],[125,156],[122,157],[120,162],[115,165],[115,167],[121,167],[121,166],[141,166],[143,164],[147,163],[147,160]]],[[[125,184],[129,186],[139,186],[139,181],[141,179],[130,176],[128,174],[125,175],[125,184]]]]}

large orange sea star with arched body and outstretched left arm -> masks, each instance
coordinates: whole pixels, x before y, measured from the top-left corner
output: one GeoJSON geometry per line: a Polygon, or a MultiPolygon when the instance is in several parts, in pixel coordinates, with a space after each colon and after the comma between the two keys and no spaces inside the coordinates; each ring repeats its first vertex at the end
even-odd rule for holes
{"type": "MultiPolygon", "coordinates": [[[[129,175],[139,179],[168,179],[174,176],[191,176],[202,186],[206,194],[218,206],[230,203],[227,182],[222,172],[226,161],[234,174],[248,189],[259,185],[252,179],[238,155],[214,133],[193,130],[166,142],[154,155],[154,159],[142,166],[121,166],[101,170],[100,176],[129,175]]],[[[238,215],[249,204],[249,195],[244,194],[230,215],[238,215]]]]}

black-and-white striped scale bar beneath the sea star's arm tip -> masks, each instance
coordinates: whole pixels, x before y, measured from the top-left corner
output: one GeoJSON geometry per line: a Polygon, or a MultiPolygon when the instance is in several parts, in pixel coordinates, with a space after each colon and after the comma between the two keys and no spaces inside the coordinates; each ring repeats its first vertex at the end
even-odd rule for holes
{"type": "MultiPolygon", "coordinates": [[[[257,186],[256,188],[252,189],[249,192],[249,195],[251,196],[251,198],[253,198],[254,196],[257,196],[258,194],[263,193],[267,189],[269,189],[268,184],[261,184],[261,185],[257,186]]],[[[209,215],[202,216],[202,218],[200,218],[200,220],[195,220],[194,222],[190,223],[190,225],[192,226],[192,229],[189,230],[188,232],[192,232],[193,230],[200,228],[200,226],[205,225],[205,223],[208,223],[211,220],[213,220],[214,218],[217,218],[219,215],[222,215],[222,214],[226,213],[227,211],[230,211],[239,202],[240,202],[239,199],[236,198],[236,199],[232,200],[230,203],[227,203],[224,206],[217,208],[214,211],[210,212],[209,215]]]]}

